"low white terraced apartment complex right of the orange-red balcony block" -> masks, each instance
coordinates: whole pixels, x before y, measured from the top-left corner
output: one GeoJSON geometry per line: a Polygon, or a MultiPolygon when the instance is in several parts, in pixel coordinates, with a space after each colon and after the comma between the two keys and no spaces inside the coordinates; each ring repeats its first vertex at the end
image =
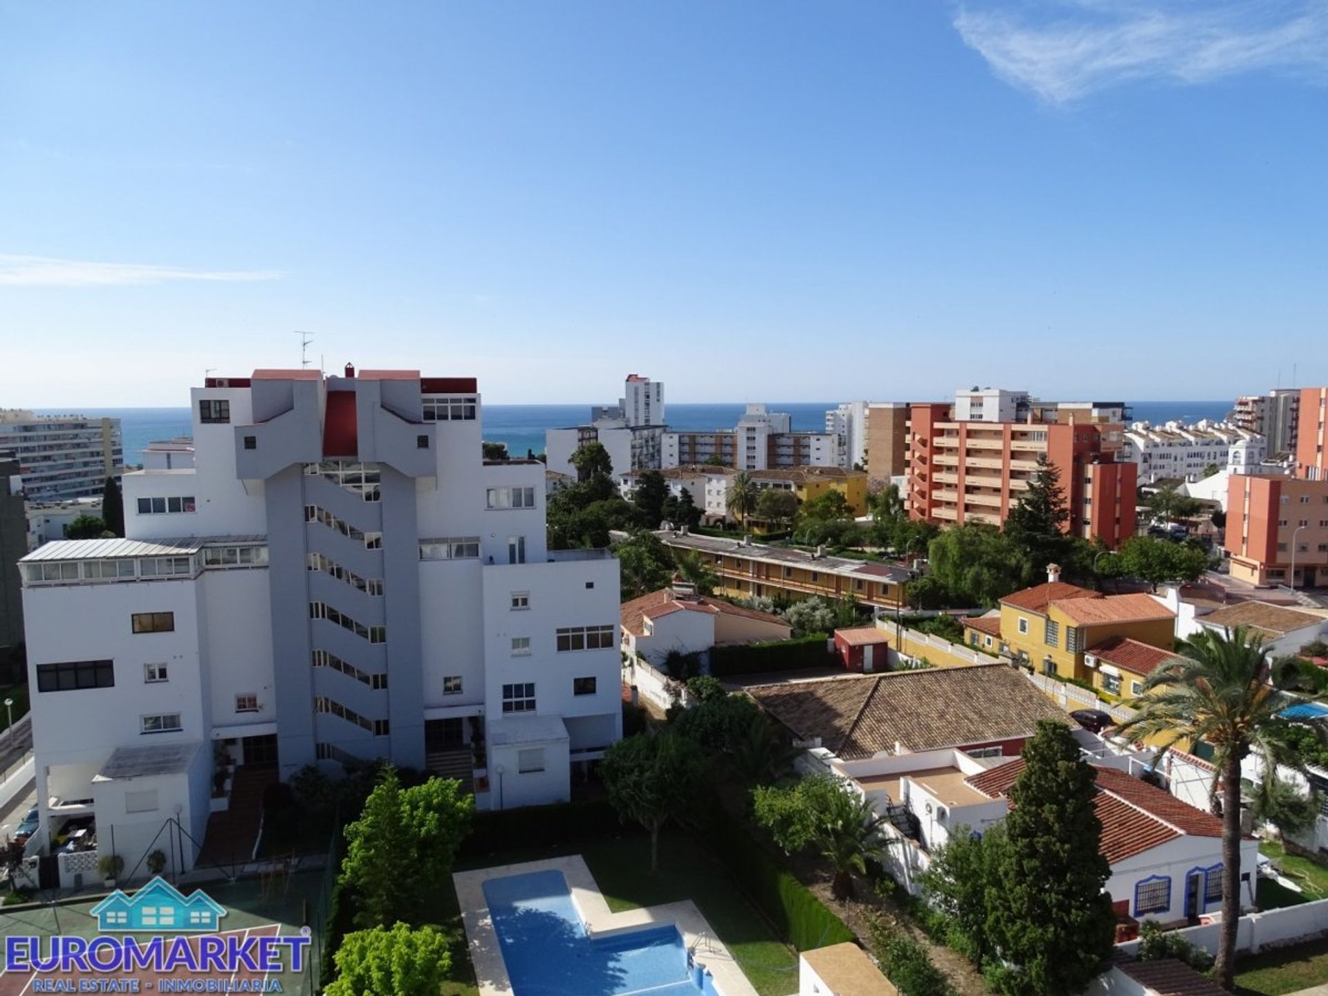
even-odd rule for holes
{"type": "Polygon", "coordinates": [[[1235,474],[1259,473],[1267,457],[1263,437],[1228,422],[1195,425],[1133,422],[1125,430],[1121,462],[1138,463],[1139,483],[1167,478],[1199,481],[1211,465],[1235,474]]]}

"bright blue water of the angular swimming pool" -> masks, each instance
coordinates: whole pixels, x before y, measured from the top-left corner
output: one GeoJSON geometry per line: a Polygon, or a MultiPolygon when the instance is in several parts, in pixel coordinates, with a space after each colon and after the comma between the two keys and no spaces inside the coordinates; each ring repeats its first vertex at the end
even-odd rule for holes
{"type": "Polygon", "coordinates": [[[673,924],[587,932],[560,871],[483,883],[513,996],[716,996],[673,924]]]}

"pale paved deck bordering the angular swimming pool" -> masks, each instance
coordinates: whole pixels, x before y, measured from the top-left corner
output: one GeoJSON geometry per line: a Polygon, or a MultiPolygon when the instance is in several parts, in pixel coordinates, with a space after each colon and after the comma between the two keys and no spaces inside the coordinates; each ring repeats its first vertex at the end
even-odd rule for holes
{"type": "Polygon", "coordinates": [[[595,936],[633,927],[677,924],[683,934],[683,944],[687,948],[696,947],[696,960],[710,972],[720,996],[758,996],[733,955],[714,936],[714,931],[696,908],[696,903],[684,899],[680,903],[610,912],[608,903],[604,902],[590,867],[580,855],[530,861],[522,865],[495,865],[491,869],[453,874],[452,880],[457,887],[457,900],[461,904],[461,919],[466,927],[466,942],[470,947],[470,961],[475,968],[479,996],[511,996],[511,981],[507,979],[502,947],[489,916],[483,883],[491,878],[525,875],[533,871],[563,872],[572,894],[572,906],[595,936]]]}

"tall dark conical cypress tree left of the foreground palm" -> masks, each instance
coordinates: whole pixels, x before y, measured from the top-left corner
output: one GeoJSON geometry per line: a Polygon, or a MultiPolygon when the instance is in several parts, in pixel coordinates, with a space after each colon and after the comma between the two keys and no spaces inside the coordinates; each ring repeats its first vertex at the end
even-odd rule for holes
{"type": "Polygon", "coordinates": [[[1112,870],[1100,850],[1093,769],[1068,726],[1042,720],[1009,791],[1007,847],[988,891],[987,930],[1011,971],[1008,996],[1082,992],[1112,952],[1112,870]]]}

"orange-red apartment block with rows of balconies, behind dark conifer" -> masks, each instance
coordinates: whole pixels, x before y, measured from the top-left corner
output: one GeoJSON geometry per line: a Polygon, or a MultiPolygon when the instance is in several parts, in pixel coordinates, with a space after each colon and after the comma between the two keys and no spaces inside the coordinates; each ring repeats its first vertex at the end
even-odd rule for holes
{"type": "Polygon", "coordinates": [[[1068,530],[1117,547],[1135,531],[1138,467],[1116,462],[1118,422],[959,422],[948,404],[912,405],[908,509],[940,526],[1004,525],[1045,456],[1061,471],[1068,530]]]}

